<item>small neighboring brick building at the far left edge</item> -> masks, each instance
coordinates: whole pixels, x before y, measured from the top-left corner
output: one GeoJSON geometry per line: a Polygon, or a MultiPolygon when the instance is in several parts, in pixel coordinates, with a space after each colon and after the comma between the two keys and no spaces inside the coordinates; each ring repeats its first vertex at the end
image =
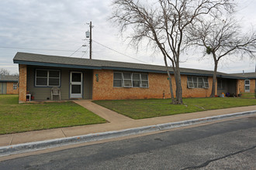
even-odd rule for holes
{"type": "Polygon", "coordinates": [[[18,94],[19,76],[0,75],[0,94],[18,94]]]}

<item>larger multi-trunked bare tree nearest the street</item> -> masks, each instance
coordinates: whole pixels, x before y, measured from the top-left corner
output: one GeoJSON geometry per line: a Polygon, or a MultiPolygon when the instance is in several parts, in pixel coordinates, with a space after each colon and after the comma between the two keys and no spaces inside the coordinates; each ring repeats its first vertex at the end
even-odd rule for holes
{"type": "Polygon", "coordinates": [[[180,56],[187,47],[185,39],[188,28],[201,15],[220,14],[221,10],[232,10],[230,0],[114,0],[112,20],[119,26],[120,32],[132,30],[130,39],[133,46],[144,40],[164,56],[167,67],[171,99],[173,104],[182,104],[182,84],[180,74],[180,56]],[[168,61],[175,76],[176,100],[171,87],[171,74],[168,61]]]}

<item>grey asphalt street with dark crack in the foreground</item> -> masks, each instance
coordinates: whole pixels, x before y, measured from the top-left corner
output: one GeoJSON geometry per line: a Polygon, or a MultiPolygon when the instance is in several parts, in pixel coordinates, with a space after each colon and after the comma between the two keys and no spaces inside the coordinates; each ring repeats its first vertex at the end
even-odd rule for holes
{"type": "Polygon", "coordinates": [[[0,169],[255,169],[256,116],[0,162],[0,169]]]}

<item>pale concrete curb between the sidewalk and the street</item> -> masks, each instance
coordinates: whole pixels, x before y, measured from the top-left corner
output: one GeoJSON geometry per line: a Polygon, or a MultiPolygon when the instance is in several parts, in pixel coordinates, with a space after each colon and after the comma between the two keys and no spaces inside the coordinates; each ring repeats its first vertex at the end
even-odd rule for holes
{"type": "Polygon", "coordinates": [[[235,114],[224,114],[220,116],[213,116],[213,117],[203,117],[198,119],[192,119],[188,121],[178,121],[178,122],[172,122],[167,124],[156,124],[156,125],[150,125],[140,128],[130,128],[130,129],[124,129],[120,131],[106,131],[102,133],[96,133],[96,134],[85,134],[81,136],[74,136],[69,138],[57,138],[47,141],[36,141],[36,142],[29,142],[19,145],[9,145],[0,147],[0,157],[1,156],[7,156],[7,155],[16,155],[20,153],[25,153],[29,151],[38,151],[43,150],[47,148],[57,148],[65,145],[75,145],[90,141],[101,141],[104,139],[110,139],[110,138],[119,138],[124,136],[129,136],[133,134],[144,134],[154,131],[164,131],[171,128],[180,128],[189,126],[192,124],[202,124],[207,123],[210,121],[218,121],[227,119],[230,117],[241,117],[245,115],[255,114],[256,110],[246,111],[246,112],[240,112],[235,114]]]}

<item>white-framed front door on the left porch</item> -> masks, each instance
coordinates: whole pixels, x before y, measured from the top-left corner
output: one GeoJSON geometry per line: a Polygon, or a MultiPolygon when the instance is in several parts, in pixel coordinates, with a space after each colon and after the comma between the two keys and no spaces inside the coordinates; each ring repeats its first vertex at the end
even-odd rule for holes
{"type": "Polygon", "coordinates": [[[71,98],[82,98],[82,80],[83,74],[81,72],[71,72],[71,98]]]}

